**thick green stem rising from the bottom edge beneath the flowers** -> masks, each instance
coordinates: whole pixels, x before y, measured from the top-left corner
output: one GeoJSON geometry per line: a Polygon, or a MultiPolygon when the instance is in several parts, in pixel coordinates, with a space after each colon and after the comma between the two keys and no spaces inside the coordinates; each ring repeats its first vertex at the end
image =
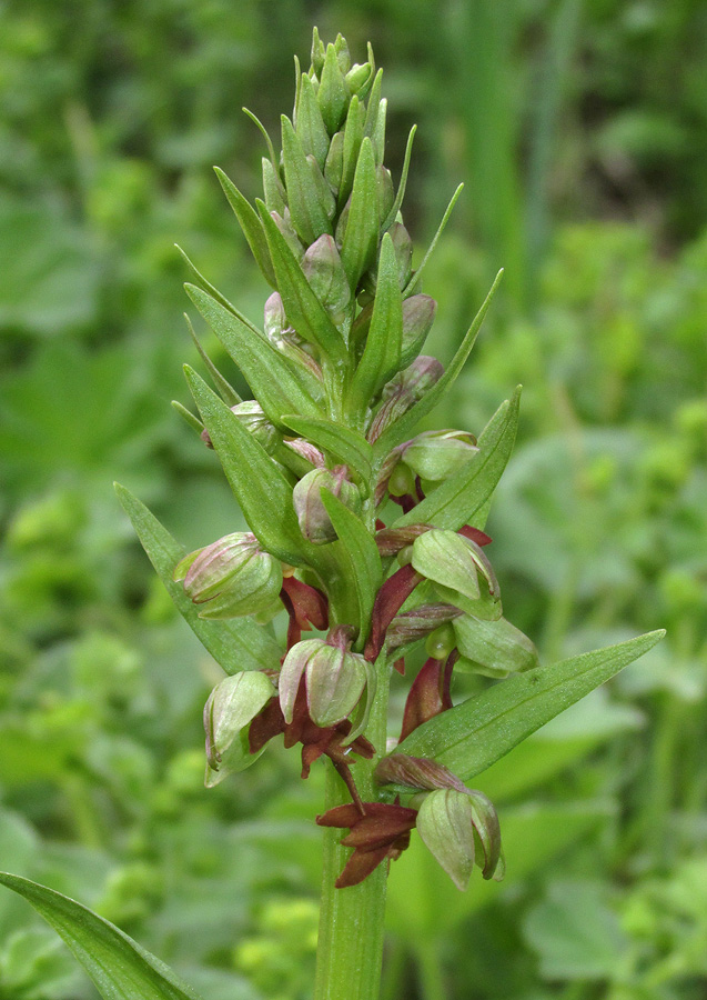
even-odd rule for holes
{"type": "MultiPolygon", "coordinates": [[[[378,686],[371,721],[366,730],[378,754],[385,752],[388,670],[378,664],[378,686]]],[[[373,770],[378,756],[357,760],[353,766],[356,786],[364,801],[377,799],[373,770]]],[[[326,808],[350,802],[351,797],[327,764],[326,808]]],[[[334,882],[351,853],[340,843],[342,831],[324,832],[324,866],[320,936],[316,953],[314,1000],[377,1000],[383,963],[383,922],[387,864],[378,868],[358,886],[335,889],[334,882]]]]}

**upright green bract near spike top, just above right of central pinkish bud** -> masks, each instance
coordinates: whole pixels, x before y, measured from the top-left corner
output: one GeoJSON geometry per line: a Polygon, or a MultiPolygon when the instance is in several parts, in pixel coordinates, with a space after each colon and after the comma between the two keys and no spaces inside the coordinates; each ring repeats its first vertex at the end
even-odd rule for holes
{"type": "Polygon", "coordinates": [[[356,162],[349,219],[344,232],[341,259],[352,290],[373,263],[378,242],[378,201],[375,156],[367,137],[361,143],[356,162]]]}

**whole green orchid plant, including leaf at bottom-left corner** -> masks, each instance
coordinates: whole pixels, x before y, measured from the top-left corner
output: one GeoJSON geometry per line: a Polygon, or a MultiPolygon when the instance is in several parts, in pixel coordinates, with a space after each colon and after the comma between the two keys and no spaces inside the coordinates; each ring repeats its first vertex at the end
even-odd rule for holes
{"type": "MultiPolygon", "coordinates": [[[[196,341],[215,391],[186,368],[199,416],[175,407],[218,456],[250,531],[186,554],[118,487],[178,609],[223,668],[204,709],[206,786],[281,736],[300,747],[303,778],[326,767],[326,802],[312,818],[324,830],[317,1000],[378,996],[388,864],[415,831],[459,889],[475,866],[502,878],[498,817],[468,782],[661,634],[541,666],[504,617],[484,527],[518,392],[478,437],[414,433],[462,371],[501,276],[446,368],[421,353],[437,308],[422,279],[461,187],[413,269],[402,206],[415,130],[395,187],[381,83],[371,47],[352,64],[341,36],[324,46],[315,30],[281,153],[248,112],[267,152],[263,199],[252,206],[216,170],[273,289],[262,328],[185,258],[188,294],[253,398],[241,399],[196,341]],[[404,674],[420,647],[427,659],[401,732],[388,733],[391,672],[404,674]],[[492,682],[455,707],[458,672],[492,682]]],[[[194,997],[79,903],[1,878],[104,997],[194,997]]]]}

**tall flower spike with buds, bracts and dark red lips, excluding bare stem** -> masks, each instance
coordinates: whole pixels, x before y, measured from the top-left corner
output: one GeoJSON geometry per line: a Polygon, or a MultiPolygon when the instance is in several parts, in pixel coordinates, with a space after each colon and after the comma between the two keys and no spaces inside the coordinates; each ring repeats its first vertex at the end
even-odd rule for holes
{"type": "Polygon", "coordinates": [[[421,354],[436,303],[422,291],[427,258],[413,270],[402,217],[414,130],[396,188],[383,163],[386,101],[371,49],[352,64],[341,36],[324,46],[315,31],[296,81],[280,154],[251,116],[267,151],[263,199],[252,206],[218,171],[273,288],[262,329],[188,261],[189,294],[254,397],[242,400],[200,348],[219,396],[190,371],[201,419],[180,410],[216,452],[251,529],[173,569],[198,621],[244,623],[229,633],[241,643],[238,662],[204,710],[206,783],[282,736],[301,744],[303,777],[327,757],[351,794],[317,818],[350,831],[337,886],[397,857],[416,828],[464,888],[475,862],[486,878],[501,871],[493,806],[433,760],[382,758],[385,732],[370,720],[390,670],[404,672],[422,644],[428,659],[411,686],[401,741],[452,708],[455,670],[498,678],[536,663],[532,642],[503,618],[481,530],[495,486],[488,453],[508,433],[494,418],[478,440],[454,429],[412,436],[477,329],[447,371],[421,354]],[[249,647],[243,636],[271,622],[249,647]],[[355,761],[377,764],[378,800],[362,800],[355,761]]]}

